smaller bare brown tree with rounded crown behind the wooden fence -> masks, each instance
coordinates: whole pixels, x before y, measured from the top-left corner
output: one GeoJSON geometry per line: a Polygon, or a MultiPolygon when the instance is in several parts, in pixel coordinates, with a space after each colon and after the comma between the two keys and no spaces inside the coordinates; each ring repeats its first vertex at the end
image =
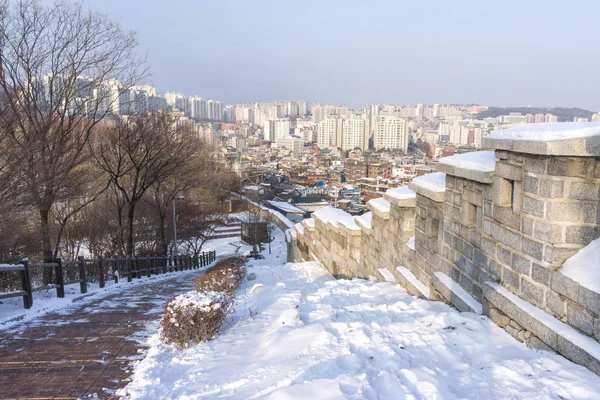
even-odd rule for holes
{"type": "MultiPolygon", "coordinates": [[[[175,174],[193,154],[192,133],[178,129],[168,112],[120,119],[92,146],[126,215],[126,254],[134,255],[136,207],[157,182],[175,174]]],[[[122,215],[119,215],[121,218],[122,215]]]]}

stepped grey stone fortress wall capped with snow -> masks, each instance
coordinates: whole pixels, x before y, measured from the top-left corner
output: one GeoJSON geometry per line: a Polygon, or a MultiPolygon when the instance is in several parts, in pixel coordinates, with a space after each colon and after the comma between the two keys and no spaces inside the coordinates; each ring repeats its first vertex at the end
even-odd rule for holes
{"type": "Polygon", "coordinates": [[[495,151],[444,158],[360,217],[315,212],[290,232],[294,257],[485,314],[600,374],[600,124],[525,125],[484,145],[495,151]]]}

